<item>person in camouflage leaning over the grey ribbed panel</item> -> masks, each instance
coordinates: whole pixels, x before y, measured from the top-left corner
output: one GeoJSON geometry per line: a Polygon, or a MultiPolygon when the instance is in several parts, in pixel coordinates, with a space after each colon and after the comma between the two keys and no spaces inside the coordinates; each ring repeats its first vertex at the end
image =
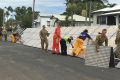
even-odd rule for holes
{"type": "Polygon", "coordinates": [[[96,40],[95,40],[95,45],[96,45],[96,51],[98,51],[100,46],[103,46],[103,43],[105,43],[105,46],[108,46],[108,38],[106,36],[107,33],[107,29],[103,29],[102,33],[99,33],[99,35],[97,35],[96,40]]]}

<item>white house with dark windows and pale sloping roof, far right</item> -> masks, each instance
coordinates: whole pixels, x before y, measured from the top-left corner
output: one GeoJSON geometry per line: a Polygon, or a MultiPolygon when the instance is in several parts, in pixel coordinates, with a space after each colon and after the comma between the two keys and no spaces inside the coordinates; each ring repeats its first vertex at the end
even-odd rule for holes
{"type": "Polygon", "coordinates": [[[118,25],[120,23],[120,5],[93,11],[93,25],[118,25]]]}

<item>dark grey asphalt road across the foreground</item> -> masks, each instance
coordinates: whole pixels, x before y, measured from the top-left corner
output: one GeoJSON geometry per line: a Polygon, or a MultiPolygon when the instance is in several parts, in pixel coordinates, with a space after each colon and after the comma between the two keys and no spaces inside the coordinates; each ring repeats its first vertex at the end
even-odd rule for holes
{"type": "Polygon", "coordinates": [[[84,65],[84,60],[0,42],[0,80],[120,80],[120,70],[84,65]]]}

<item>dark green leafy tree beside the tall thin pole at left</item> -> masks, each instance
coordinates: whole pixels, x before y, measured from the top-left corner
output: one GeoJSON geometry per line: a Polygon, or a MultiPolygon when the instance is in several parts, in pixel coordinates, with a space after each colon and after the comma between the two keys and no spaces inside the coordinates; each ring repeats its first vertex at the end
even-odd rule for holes
{"type": "MultiPolygon", "coordinates": [[[[17,7],[15,9],[16,12],[16,20],[21,21],[21,26],[23,28],[32,27],[32,8],[31,7],[17,7]]],[[[37,16],[39,15],[38,11],[35,11],[35,19],[37,19],[37,16]]]]}

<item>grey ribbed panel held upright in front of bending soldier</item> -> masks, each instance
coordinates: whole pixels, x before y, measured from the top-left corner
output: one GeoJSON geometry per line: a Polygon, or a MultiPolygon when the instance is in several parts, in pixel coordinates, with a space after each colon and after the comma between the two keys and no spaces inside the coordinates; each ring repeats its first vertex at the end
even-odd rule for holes
{"type": "Polygon", "coordinates": [[[86,47],[85,65],[96,67],[109,67],[111,47],[101,46],[99,52],[96,52],[95,45],[86,47]]]}

